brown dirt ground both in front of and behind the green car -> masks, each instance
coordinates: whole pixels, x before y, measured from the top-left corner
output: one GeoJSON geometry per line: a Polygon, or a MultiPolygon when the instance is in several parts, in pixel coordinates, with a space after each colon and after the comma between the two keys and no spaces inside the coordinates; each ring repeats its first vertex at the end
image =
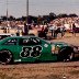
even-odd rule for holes
{"type": "MultiPolygon", "coordinates": [[[[66,35],[53,42],[66,42],[79,46],[77,36],[66,35]]],[[[0,65],[0,79],[79,79],[79,60],[69,63],[40,63],[0,65]]]]}

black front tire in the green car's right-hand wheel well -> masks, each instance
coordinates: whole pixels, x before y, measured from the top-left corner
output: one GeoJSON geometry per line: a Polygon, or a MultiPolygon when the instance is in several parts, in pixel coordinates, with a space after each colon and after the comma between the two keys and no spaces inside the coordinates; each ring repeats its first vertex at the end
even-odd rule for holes
{"type": "Polygon", "coordinates": [[[65,47],[59,50],[58,60],[71,61],[74,59],[74,49],[71,47],[65,47]]]}

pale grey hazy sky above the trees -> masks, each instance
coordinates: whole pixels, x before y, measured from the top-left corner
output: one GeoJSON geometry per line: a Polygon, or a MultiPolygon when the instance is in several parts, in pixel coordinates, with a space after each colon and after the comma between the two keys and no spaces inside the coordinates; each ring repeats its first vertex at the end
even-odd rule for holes
{"type": "MultiPolygon", "coordinates": [[[[26,15],[26,0],[0,0],[0,16],[8,14],[15,18],[26,15]]],[[[79,0],[29,0],[29,15],[47,15],[50,12],[76,13],[79,15],[79,0]]]]}

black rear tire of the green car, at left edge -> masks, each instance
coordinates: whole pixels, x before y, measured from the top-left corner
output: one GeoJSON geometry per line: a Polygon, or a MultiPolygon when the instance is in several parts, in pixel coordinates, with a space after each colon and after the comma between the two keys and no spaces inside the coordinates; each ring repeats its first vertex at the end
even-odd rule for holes
{"type": "Polygon", "coordinates": [[[0,50],[0,64],[7,65],[12,61],[12,54],[9,50],[0,50]]]}

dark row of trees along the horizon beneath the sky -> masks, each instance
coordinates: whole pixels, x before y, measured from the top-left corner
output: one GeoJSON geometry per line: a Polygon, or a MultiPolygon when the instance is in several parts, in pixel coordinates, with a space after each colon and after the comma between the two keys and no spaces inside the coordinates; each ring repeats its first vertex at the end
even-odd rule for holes
{"type": "Polygon", "coordinates": [[[75,18],[75,16],[78,16],[78,15],[76,13],[71,13],[71,14],[60,13],[56,15],[54,12],[50,12],[48,15],[38,15],[38,16],[29,15],[27,18],[26,16],[14,18],[13,15],[10,15],[9,18],[7,18],[5,15],[1,15],[0,22],[7,21],[7,20],[8,21],[26,21],[27,19],[29,24],[31,23],[45,24],[58,18],[75,18]]]}

